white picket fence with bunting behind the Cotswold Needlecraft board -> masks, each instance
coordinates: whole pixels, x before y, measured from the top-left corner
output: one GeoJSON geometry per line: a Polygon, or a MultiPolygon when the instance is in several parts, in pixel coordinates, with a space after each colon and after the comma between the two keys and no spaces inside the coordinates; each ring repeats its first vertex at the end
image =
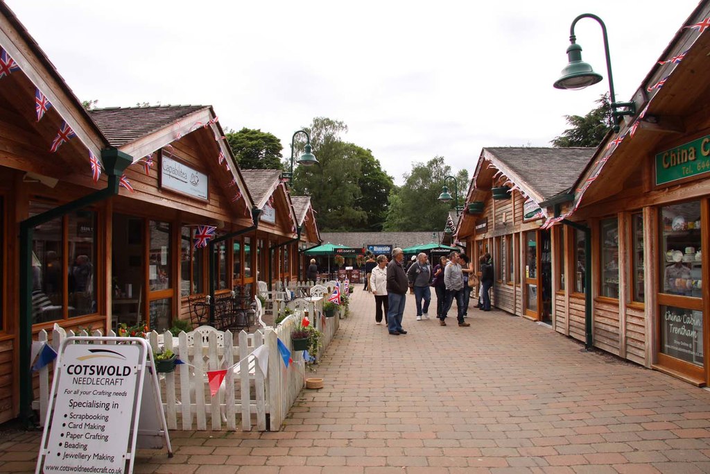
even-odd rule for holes
{"type": "MultiPolygon", "coordinates": [[[[315,316],[311,316],[310,320],[323,333],[322,349],[317,355],[321,357],[339,328],[339,318],[321,317],[318,306],[321,305],[316,306],[315,316]]],[[[291,331],[301,318],[302,312],[297,311],[275,329],[266,328],[253,334],[241,331],[236,335],[237,345],[234,345],[234,334],[229,331],[222,333],[207,326],[190,333],[180,333],[177,338],[170,332],[163,335],[155,331],[150,333],[148,340],[154,352],[170,349],[185,362],[184,365],[178,365],[175,372],[160,374],[159,377],[168,428],[234,431],[241,425],[243,431],[255,427],[259,431],[280,430],[285,416],[305,384],[307,369],[302,352],[293,352],[293,364],[285,367],[278,351],[277,338],[290,348],[291,331]],[[266,345],[269,357],[266,376],[261,373],[257,361],[251,355],[261,345],[266,345]],[[232,365],[235,366],[227,371],[219,392],[212,397],[207,371],[222,370],[232,365]]],[[[58,350],[62,340],[73,335],[89,334],[86,331],[76,334],[65,332],[55,325],[51,338],[42,330],[38,340],[48,341],[58,350]]],[[[102,333],[96,330],[90,335],[101,336],[102,333]]],[[[109,331],[107,335],[115,334],[109,331]]],[[[49,406],[50,377],[53,372],[53,363],[38,371],[39,397],[33,402],[33,408],[39,411],[42,426],[49,406]]]]}

